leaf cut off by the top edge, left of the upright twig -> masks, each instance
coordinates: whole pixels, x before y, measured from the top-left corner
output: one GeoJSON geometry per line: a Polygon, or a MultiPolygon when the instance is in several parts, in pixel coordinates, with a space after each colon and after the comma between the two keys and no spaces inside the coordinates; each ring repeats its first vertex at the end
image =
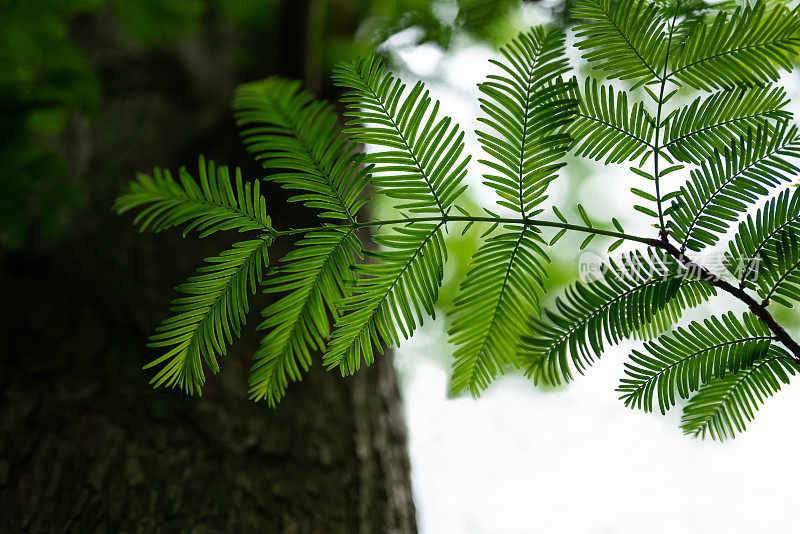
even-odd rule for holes
{"type": "Polygon", "coordinates": [[[609,78],[634,86],[659,78],[664,63],[666,24],[659,6],[648,0],[576,0],[572,17],[577,48],[609,78]]]}

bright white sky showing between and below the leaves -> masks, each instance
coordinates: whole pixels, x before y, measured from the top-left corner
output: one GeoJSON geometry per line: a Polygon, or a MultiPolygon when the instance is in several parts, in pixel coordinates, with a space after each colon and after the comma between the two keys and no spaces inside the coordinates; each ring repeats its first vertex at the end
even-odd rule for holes
{"type": "MultiPolygon", "coordinates": [[[[395,49],[410,77],[429,81],[443,111],[466,130],[468,152],[478,155],[475,84],[488,72],[491,52],[467,47],[445,57],[433,45],[395,49]]],[[[795,76],[787,81],[798,86],[795,76]]],[[[473,165],[472,183],[481,171],[473,165]]],[[[626,192],[630,175],[624,166],[598,166],[581,201],[590,213],[617,216],[627,230],[645,233],[626,192]]],[[[558,202],[559,196],[556,191],[551,198],[558,202]]],[[[494,201],[488,194],[478,200],[494,201]]],[[[441,320],[426,324],[397,352],[421,531],[800,532],[800,389],[770,399],[733,441],[690,439],[678,428],[680,407],[662,417],[631,411],[618,400],[614,389],[629,349],[608,350],[561,391],[540,391],[511,376],[480,400],[448,400],[441,355],[452,348],[441,320]]]]}

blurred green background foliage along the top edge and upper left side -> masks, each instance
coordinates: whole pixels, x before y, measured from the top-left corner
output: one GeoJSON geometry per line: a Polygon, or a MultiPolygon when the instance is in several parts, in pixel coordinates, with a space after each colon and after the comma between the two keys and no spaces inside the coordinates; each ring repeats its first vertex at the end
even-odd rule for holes
{"type": "MultiPolygon", "coordinates": [[[[292,4],[295,4],[294,6],[292,4]]],[[[93,66],[87,20],[101,14],[136,47],[181,46],[217,32],[245,76],[296,74],[330,96],[328,73],[386,38],[414,27],[419,42],[447,48],[456,36],[504,42],[518,29],[517,0],[310,0],[306,28],[287,28],[280,0],[2,0],[0,2],[0,246],[57,239],[80,212],[86,190],[68,172],[71,129],[91,121],[107,88],[93,66]],[[292,47],[283,33],[298,31],[292,47]],[[301,69],[301,70],[300,70],[301,69]]],[[[561,8],[559,8],[561,9],[561,8]]],[[[391,59],[391,58],[390,58],[391,59]]],[[[135,66],[132,66],[135,68],[135,66]]],[[[224,95],[222,96],[224,98],[224,95]]]]}

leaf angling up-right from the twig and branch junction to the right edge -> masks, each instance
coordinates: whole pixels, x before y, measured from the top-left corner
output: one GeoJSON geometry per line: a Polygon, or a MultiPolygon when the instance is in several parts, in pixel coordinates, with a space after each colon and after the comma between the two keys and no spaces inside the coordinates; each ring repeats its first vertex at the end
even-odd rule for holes
{"type": "Polygon", "coordinates": [[[692,171],[668,210],[670,232],[682,247],[714,245],[747,206],[797,173],[797,128],[788,124],[751,130],[730,148],[692,171]]]}

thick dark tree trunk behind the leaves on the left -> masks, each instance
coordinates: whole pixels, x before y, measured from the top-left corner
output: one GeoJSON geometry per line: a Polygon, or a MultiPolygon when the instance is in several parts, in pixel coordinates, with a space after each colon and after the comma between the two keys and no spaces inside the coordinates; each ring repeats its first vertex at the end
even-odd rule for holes
{"type": "MultiPolygon", "coordinates": [[[[57,245],[0,262],[0,531],[414,532],[390,358],[349,379],[317,366],[278,409],[254,404],[259,295],[202,399],[147,384],[146,338],[172,287],[230,241],[141,236],[110,206],[137,171],[192,168],[199,152],[262,174],[229,117],[243,45],[214,23],[148,50],[109,12],[77,28],[105,89],[99,114],[76,117],[65,140],[87,206],[57,245]]],[[[276,220],[309,222],[266,194],[276,220]]]]}

